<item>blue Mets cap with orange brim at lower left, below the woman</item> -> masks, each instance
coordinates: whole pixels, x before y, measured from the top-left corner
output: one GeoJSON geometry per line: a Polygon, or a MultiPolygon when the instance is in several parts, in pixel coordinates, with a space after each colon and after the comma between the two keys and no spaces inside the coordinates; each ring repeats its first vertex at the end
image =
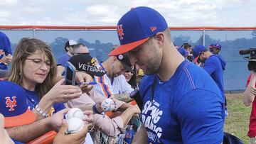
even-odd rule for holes
{"type": "Polygon", "coordinates": [[[26,93],[18,84],[0,81],[0,113],[4,116],[4,127],[21,126],[36,121],[34,113],[28,109],[26,93]]]}

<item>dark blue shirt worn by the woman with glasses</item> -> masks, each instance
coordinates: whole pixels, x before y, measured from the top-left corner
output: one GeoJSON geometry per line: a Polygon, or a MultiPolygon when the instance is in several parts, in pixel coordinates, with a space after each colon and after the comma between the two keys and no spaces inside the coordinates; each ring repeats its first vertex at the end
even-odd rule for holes
{"type": "MultiPolygon", "coordinates": [[[[38,94],[35,91],[29,91],[27,89],[24,89],[26,92],[26,99],[28,103],[29,109],[33,110],[34,107],[36,107],[36,104],[39,104],[39,97],[38,94]]],[[[49,116],[52,116],[54,113],[57,113],[58,111],[65,109],[65,105],[63,103],[55,103],[53,104],[53,107],[48,112],[49,116]]]]}

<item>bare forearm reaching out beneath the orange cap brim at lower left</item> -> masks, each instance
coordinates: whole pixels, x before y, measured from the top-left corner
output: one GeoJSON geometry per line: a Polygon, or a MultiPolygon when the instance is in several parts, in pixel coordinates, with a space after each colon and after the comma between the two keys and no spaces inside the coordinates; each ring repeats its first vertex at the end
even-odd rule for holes
{"type": "Polygon", "coordinates": [[[36,121],[24,126],[6,128],[6,131],[11,138],[14,138],[23,143],[28,143],[29,141],[38,138],[48,131],[51,131],[50,118],[44,118],[40,121],[36,121]]]}

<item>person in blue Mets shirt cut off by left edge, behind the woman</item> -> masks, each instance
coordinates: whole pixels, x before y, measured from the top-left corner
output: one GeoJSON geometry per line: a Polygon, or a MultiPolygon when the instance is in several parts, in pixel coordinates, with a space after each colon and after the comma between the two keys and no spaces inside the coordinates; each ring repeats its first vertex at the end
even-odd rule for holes
{"type": "Polygon", "coordinates": [[[0,70],[7,70],[12,60],[11,43],[6,34],[0,31],[0,70]]]}

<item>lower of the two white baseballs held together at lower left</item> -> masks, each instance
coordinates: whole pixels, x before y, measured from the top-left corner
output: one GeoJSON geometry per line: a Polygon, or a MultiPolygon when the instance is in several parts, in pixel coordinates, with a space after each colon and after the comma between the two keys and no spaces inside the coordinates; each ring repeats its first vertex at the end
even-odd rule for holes
{"type": "Polygon", "coordinates": [[[78,133],[78,131],[81,131],[83,126],[84,126],[84,122],[80,119],[80,118],[70,118],[68,119],[68,129],[67,132],[68,133],[78,133]]]}

